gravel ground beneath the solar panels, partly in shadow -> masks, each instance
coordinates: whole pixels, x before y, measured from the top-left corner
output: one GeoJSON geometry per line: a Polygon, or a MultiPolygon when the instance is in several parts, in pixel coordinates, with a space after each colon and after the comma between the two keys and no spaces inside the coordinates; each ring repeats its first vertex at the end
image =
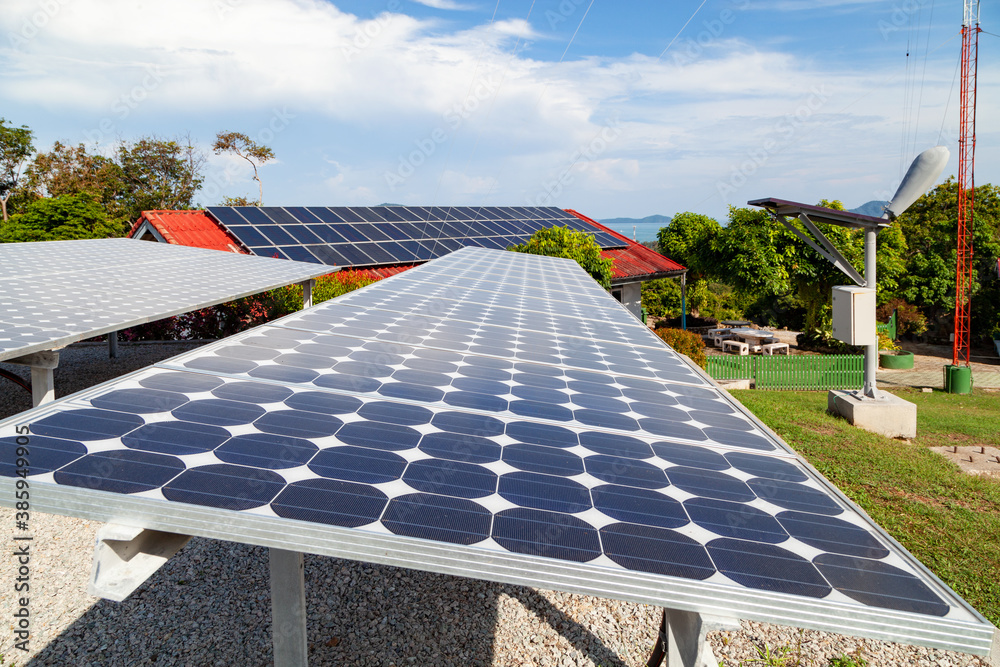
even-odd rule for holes
{"type": "MultiPolygon", "coordinates": [[[[190,344],[72,346],[56,371],[58,395],[83,389],[190,344]]],[[[6,369],[18,367],[2,365],[6,369]]],[[[22,369],[24,370],[24,369],[22,369]]],[[[0,380],[0,417],[30,398],[0,380]]],[[[13,510],[0,508],[0,524],[13,510]]],[[[13,648],[13,596],[0,583],[0,665],[268,665],[272,661],[267,550],[193,539],[124,602],[87,595],[100,524],[31,518],[30,651],[13,648]]],[[[0,559],[0,582],[15,563],[0,559]]],[[[310,664],[319,665],[644,665],[659,627],[645,605],[493,584],[335,558],[305,557],[310,664]]],[[[759,662],[765,644],[785,662],[826,667],[842,654],[871,667],[988,665],[958,653],[744,621],[712,633],[727,667],[759,662]]]]}

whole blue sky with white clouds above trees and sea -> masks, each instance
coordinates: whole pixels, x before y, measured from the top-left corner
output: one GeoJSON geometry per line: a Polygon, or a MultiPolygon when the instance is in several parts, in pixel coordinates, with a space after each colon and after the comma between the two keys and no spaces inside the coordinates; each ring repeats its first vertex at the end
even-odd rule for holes
{"type": "MultiPolygon", "coordinates": [[[[983,29],[998,15],[983,3],[983,29]]],[[[961,17],[959,0],[5,0],[0,116],[40,149],[189,134],[202,205],[256,193],[209,150],[235,130],[278,157],[269,205],[853,207],[939,141],[956,173],[961,17]]],[[[998,49],[980,36],[978,183],[1000,183],[998,49]]]]}

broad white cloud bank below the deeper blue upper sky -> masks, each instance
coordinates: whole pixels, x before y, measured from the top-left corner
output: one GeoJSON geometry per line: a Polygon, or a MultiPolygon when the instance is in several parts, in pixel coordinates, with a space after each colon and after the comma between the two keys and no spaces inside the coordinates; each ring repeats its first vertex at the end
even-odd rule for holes
{"type": "MultiPolygon", "coordinates": [[[[521,51],[540,39],[524,20],[448,32],[399,12],[355,16],[321,0],[56,5],[30,37],[0,40],[6,108],[45,108],[110,140],[140,121],[187,122],[176,119],[270,133],[289,157],[265,177],[268,201],[280,175],[295,171],[286,191],[305,198],[315,179],[317,204],[546,195],[595,216],[627,215],[631,205],[723,211],[772,194],[852,204],[875,198],[873,181],[895,178],[900,161],[902,79],[838,70],[773,43],[726,35],[691,51],[681,40],[659,62],[635,54],[553,63],[521,51]],[[614,140],[588,154],[613,124],[614,140]],[[407,171],[420,150],[420,164],[390,190],[386,174],[407,171]],[[336,156],[334,173],[321,155],[336,156]],[[550,188],[563,173],[572,180],[550,188]],[[734,188],[728,200],[720,183],[734,188]]],[[[22,35],[38,7],[5,0],[0,35],[22,35]]],[[[933,124],[935,136],[953,69],[953,61],[927,69],[923,125],[933,124]]],[[[983,85],[989,76],[981,68],[981,118],[997,105],[983,85]]],[[[934,142],[925,134],[918,148],[934,142]]],[[[243,176],[233,187],[256,185],[243,176]]]]}

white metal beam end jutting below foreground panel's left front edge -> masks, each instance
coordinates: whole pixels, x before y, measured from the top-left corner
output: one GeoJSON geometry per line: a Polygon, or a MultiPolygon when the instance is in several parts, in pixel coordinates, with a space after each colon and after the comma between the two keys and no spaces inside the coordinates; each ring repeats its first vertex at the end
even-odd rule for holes
{"type": "Polygon", "coordinates": [[[181,550],[188,535],[109,523],[97,531],[87,592],[121,602],[181,550]]]}

